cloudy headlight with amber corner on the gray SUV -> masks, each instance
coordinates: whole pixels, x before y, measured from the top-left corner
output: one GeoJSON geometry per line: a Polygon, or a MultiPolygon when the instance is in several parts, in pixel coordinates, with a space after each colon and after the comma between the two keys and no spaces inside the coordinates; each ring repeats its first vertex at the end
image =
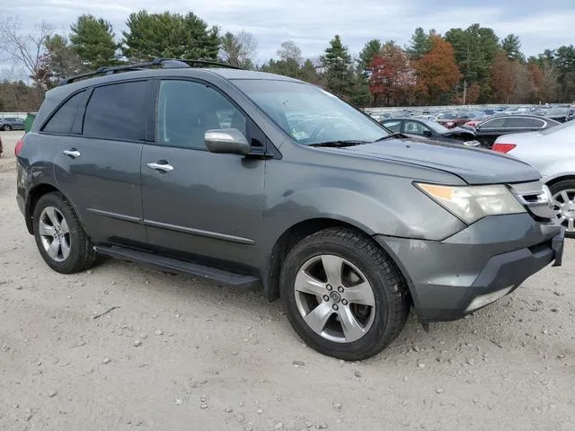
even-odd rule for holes
{"type": "Polygon", "coordinates": [[[438,184],[416,183],[416,186],[466,224],[472,224],[485,216],[526,212],[525,207],[502,184],[439,186],[438,184]]]}

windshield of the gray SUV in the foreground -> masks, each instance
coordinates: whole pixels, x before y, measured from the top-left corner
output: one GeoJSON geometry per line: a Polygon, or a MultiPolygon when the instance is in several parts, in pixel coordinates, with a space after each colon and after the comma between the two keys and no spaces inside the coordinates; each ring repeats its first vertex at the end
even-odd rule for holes
{"type": "Polygon", "coordinates": [[[366,114],[311,84],[253,79],[234,84],[299,144],[374,142],[389,135],[366,114]]]}

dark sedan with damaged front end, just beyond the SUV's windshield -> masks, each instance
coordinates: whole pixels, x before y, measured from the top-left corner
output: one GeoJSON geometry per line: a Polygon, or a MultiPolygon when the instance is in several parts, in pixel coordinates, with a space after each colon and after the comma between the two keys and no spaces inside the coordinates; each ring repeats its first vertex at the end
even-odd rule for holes
{"type": "Polygon", "coordinates": [[[429,119],[386,119],[381,124],[395,133],[422,136],[435,142],[481,146],[481,143],[475,140],[475,134],[472,130],[446,128],[429,119]]]}

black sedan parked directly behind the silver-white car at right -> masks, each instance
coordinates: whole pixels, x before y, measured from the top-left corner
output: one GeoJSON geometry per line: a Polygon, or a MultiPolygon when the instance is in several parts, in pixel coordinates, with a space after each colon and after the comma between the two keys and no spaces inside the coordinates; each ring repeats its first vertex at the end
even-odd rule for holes
{"type": "Polygon", "coordinates": [[[483,121],[475,127],[475,136],[478,141],[489,148],[501,135],[509,133],[531,132],[544,128],[553,128],[559,123],[553,119],[536,117],[534,115],[501,115],[483,121]]]}

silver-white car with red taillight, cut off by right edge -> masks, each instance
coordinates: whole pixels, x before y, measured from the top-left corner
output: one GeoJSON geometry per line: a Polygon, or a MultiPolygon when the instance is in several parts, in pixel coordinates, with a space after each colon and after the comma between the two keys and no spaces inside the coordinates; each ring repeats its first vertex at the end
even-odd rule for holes
{"type": "Polygon", "coordinates": [[[536,132],[499,136],[492,149],[533,165],[551,190],[557,217],[575,237],[575,120],[536,132]]]}

